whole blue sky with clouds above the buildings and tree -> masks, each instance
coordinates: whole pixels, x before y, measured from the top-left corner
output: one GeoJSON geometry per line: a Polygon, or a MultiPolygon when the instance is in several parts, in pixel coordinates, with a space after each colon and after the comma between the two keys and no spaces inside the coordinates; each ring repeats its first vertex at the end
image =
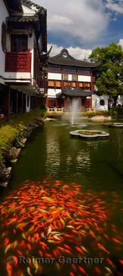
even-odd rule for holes
{"type": "Polygon", "coordinates": [[[112,42],[123,49],[123,0],[33,0],[47,9],[50,56],[66,48],[84,59],[112,42]]]}

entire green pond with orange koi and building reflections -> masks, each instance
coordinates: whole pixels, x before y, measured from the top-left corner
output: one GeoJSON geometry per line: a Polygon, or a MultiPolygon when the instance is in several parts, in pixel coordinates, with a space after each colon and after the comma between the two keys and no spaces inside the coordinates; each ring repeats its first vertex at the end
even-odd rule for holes
{"type": "Polygon", "coordinates": [[[122,128],[86,120],[37,128],[1,189],[1,275],[122,275],[122,162],[122,128]],[[70,137],[77,129],[109,137],[70,137]]]}

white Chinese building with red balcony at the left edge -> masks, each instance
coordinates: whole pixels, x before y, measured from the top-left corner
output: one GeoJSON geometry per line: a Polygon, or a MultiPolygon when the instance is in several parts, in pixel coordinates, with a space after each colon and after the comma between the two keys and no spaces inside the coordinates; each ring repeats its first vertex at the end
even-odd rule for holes
{"type": "Polygon", "coordinates": [[[7,116],[46,103],[47,11],[28,0],[0,3],[0,109],[7,116]]]}

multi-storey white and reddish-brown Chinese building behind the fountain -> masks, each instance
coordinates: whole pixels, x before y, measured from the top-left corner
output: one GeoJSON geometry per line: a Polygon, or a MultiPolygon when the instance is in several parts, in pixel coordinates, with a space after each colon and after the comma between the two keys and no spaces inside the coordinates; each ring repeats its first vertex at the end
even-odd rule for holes
{"type": "Polygon", "coordinates": [[[99,65],[99,62],[77,60],[66,49],[55,57],[49,57],[48,110],[66,110],[68,103],[75,98],[80,99],[82,110],[93,108],[94,76],[99,65]]]}

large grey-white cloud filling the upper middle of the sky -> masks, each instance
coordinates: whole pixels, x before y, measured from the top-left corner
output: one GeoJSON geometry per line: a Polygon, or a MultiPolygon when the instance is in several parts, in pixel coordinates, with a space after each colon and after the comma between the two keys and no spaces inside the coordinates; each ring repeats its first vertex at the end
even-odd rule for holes
{"type": "Polygon", "coordinates": [[[48,12],[50,36],[59,36],[69,45],[97,43],[109,23],[103,0],[34,0],[48,12]],[[70,39],[70,41],[69,41],[70,39]],[[72,41],[72,43],[71,43],[72,41]]]}

